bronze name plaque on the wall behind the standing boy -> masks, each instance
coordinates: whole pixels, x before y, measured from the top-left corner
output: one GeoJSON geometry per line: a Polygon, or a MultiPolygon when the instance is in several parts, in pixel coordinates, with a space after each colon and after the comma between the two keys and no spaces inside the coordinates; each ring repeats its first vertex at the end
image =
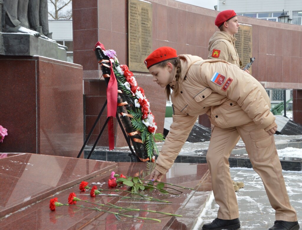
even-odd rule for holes
{"type": "MultiPolygon", "coordinates": [[[[243,66],[246,66],[247,63],[251,62],[250,58],[252,57],[252,26],[240,24],[238,33],[235,34],[235,38],[237,39],[235,47],[239,58],[243,66]]],[[[249,68],[249,72],[251,72],[251,74],[252,66],[253,65],[249,68]]]]}

